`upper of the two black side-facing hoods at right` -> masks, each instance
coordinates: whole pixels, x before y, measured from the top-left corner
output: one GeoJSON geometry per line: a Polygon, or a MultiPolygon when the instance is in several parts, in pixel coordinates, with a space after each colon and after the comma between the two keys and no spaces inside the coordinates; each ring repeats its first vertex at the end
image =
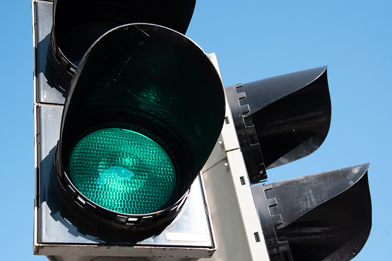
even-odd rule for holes
{"type": "Polygon", "coordinates": [[[327,67],[225,88],[252,183],[265,169],[303,158],[325,140],[331,122],[327,67]]]}

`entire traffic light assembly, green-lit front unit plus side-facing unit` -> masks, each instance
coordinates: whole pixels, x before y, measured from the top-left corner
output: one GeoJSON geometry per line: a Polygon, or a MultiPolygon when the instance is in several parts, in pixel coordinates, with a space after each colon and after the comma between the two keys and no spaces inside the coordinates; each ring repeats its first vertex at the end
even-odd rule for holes
{"type": "Polygon", "coordinates": [[[34,254],[79,261],[351,260],[371,226],[368,165],[263,184],[266,169],[305,157],[324,141],[331,117],[326,67],[223,91],[215,54],[182,35],[194,6],[32,1],[34,254]],[[145,153],[155,153],[152,161],[138,154],[144,147],[136,140],[152,148],[145,153]],[[149,174],[139,177],[158,158],[151,169],[166,176],[153,187],[149,174]],[[149,194],[138,197],[142,187],[149,194]],[[151,198],[160,203],[149,207],[151,198]],[[346,206],[355,207],[344,213],[346,206]]]}

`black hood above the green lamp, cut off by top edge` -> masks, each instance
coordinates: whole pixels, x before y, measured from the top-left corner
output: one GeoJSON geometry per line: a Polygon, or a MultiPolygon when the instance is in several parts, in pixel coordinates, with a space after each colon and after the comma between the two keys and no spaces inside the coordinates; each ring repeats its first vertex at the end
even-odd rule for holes
{"type": "Polygon", "coordinates": [[[106,31],[149,23],[185,34],[195,4],[196,0],[54,0],[49,58],[69,83],[84,53],[106,31]]]}

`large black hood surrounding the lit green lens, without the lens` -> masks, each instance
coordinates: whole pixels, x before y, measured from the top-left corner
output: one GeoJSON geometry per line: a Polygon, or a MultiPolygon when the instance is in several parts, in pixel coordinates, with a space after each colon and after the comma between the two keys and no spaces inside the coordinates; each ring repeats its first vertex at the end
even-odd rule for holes
{"type": "MultiPolygon", "coordinates": [[[[217,142],[224,113],[221,78],[194,42],[154,24],[114,28],[89,48],[71,81],[56,153],[60,190],[73,186],[69,161],[78,141],[103,129],[127,129],[172,161],[174,192],[157,211],[177,212],[217,142]]],[[[130,153],[126,158],[139,159],[130,153]]]]}

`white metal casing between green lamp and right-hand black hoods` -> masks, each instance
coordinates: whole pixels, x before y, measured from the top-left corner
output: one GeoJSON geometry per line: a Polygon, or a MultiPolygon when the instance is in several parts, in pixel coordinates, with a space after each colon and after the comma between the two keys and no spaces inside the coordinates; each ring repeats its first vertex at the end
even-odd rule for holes
{"type": "MultiPolygon", "coordinates": [[[[221,75],[215,53],[209,57],[221,75]]],[[[217,251],[208,260],[269,261],[227,101],[225,117],[221,136],[201,170],[217,241],[217,251]]]]}

